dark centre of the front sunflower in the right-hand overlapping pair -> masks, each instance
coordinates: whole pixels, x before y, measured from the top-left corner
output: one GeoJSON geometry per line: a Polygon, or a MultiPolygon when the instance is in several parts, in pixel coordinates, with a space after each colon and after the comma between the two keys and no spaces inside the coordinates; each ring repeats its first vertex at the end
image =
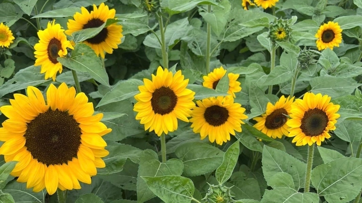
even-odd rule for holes
{"type": "Polygon", "coordinates": [[[318,136],[328,125],[328,116],[320,109],[309,109],[302,118],[301,129],[306,136],[318,136]]]}

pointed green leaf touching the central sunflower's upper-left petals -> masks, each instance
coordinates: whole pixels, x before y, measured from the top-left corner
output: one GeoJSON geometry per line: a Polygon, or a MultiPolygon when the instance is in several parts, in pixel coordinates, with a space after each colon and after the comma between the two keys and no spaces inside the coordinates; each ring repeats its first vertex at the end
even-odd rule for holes
{"type": "Polygon", "coordinates": [[[135,79],[119,82],[110,92],[104,95],[97,107],[133,97],[139,93],[138,86],[140,85],[143,85],[143,82],[135,79]]]}

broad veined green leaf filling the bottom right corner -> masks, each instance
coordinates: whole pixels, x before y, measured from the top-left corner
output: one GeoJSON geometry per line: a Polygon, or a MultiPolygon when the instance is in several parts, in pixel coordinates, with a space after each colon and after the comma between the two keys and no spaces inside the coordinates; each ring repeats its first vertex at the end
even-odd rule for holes
{"type": "Polygon", "coordinates": [[[361,191],[362,159],[340,158],[316,166],[311,181],[319,196],[330,203],[349,203],[361,191]]]}

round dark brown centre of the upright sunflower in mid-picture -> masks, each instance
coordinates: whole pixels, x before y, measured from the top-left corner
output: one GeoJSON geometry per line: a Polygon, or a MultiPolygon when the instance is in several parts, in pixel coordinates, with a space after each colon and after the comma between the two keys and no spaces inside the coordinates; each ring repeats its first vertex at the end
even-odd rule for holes
{"type": "Polygon", "coordinates": [[[170,87],[162,86],[152,93],[151,106],[155,114],[169,114],[174,110],[176,104],[177,96],[170,87]]]}

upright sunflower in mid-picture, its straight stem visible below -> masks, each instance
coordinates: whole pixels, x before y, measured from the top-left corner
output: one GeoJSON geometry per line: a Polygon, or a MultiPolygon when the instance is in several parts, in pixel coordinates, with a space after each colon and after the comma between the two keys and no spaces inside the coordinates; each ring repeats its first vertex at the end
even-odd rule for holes
{"type": "Polygon", "coordinates": [[[161,66],[156,76],[152,74],[152,81],[143,79],[144,85],[138,86],[140,93],[134,96],[137,103],[133,111],[138,112],[136,120],[141,120],[145,130],[155,130],[161,136],[177,129],[177,119],[188,122],[195,92],[186,89],[188,79],[183,79],[181,71],[173,75],[161,66]]]}

